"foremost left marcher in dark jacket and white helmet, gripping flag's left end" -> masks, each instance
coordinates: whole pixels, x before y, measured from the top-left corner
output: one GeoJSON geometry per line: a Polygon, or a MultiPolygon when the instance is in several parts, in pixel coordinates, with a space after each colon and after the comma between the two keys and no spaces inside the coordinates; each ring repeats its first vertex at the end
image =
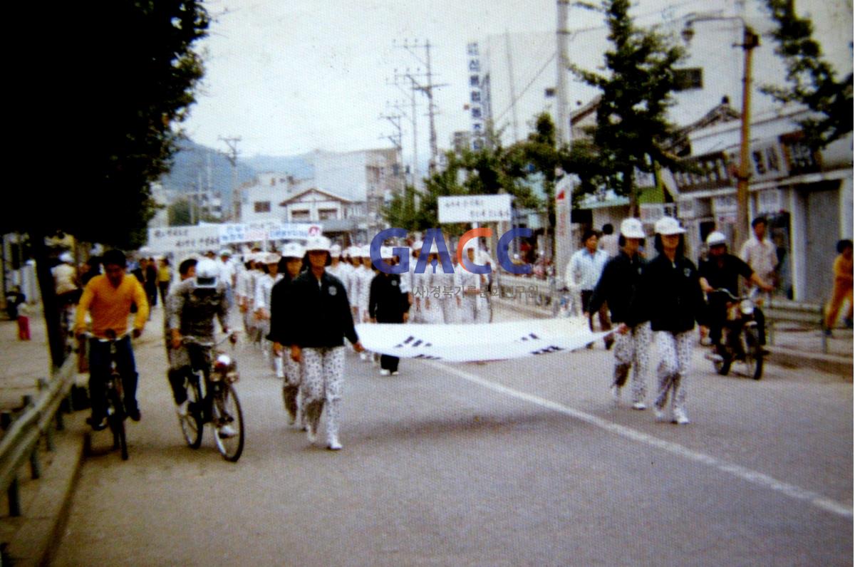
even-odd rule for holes
{"type": "Polygon", "coordinates": [[[362,352],[353,327],[351,306],[345,286],[326,272],[329,239],[312,237],[306,241],[310,269],[293,281],[294,320],[300,328],[289,328],[283,344],[291,345],[292,360],[302,363],[304,419],[306,435],[315,443],[324,405],[327,406],[327,448],[338,451],[339,411],[345,373],[344,338],[362,352]]]}

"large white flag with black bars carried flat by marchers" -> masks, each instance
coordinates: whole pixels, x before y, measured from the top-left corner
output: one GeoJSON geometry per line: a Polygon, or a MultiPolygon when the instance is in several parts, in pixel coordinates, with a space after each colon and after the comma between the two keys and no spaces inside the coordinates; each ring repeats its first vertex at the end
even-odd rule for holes
{"type": "Polygon", "coordinates": [[[458,363],[573,351],[609,333],[592,333],[581,317],[476,325],[357,325],[359,340],[369,351],[458,363]]]}

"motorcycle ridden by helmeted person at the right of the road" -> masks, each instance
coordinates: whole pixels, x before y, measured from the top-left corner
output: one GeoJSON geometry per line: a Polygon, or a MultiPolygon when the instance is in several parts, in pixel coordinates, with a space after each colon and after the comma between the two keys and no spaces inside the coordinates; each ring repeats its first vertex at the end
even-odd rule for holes
{"type": "Polygon", "coordinates": [[[739,363],[743,374],[760,380],[763,377],[764,350],[760,345],[755,314],[755,310],[759,309],[758,288],[753,288],[741,297],[734,296],[723,287],[711,293],[722,293],[728,299],[726,322],[722,328],[722,348],[718,354],[710,356],[716,372],[726,376],[733,364],[739,363]]]}

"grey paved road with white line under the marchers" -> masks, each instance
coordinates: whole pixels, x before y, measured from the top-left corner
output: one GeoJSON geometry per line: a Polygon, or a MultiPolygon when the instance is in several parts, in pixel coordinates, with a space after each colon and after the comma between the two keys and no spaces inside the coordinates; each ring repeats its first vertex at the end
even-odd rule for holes
{"type": "Polygon", "coordinates": [[[678,427],[611,403],[601,347],[397,377],[350,356],[345,449],[327,452],[244,348],[229,464],[209,437],[183,445],[158,328],[138,346],[131,458],[87,460],[57,565],[852,564],[840,377],[721,377],[697,353],[678,427]]]}

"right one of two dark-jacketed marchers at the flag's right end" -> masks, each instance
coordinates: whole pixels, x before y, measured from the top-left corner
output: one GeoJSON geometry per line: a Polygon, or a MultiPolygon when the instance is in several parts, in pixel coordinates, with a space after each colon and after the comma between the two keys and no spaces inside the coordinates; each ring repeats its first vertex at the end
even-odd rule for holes
{"type": "Polygon", "coordinates": [[[685,256],[686,230],[670,216],[656,221],[654,229],[654,248],[659,254],[644,270],[640,293],[640,304],[650,315],[659,358],[653,413],[657,421],[669,421],[665,406],[670,397],[670,421],[683,425],[689,422],[686,397],[694,346],[692,331],[703,316],[704,294],[698,269],[685,256]]]}

